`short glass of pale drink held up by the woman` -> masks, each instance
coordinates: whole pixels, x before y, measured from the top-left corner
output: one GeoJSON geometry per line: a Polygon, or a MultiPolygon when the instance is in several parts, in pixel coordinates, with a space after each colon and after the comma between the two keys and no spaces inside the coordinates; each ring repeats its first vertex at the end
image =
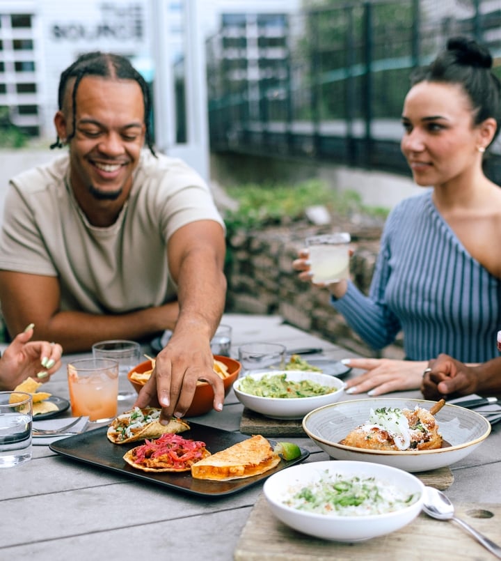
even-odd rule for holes
{"type": "Polygon", "coordinates": [[[313,284],[330,284],[349,278],[350,240],[347,232],[306,238],[313,284]]]}

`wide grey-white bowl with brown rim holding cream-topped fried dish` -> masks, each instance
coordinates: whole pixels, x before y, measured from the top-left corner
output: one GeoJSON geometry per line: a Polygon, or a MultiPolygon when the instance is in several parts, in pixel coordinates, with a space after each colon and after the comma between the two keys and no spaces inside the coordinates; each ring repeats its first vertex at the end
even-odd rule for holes
{"type": "Polygon", "coordinates": [[[491,433],[491,424],[443,401],[378,397],[310,411],[303,430],[334,459],[421,472],[464,459],[491,433]]]}

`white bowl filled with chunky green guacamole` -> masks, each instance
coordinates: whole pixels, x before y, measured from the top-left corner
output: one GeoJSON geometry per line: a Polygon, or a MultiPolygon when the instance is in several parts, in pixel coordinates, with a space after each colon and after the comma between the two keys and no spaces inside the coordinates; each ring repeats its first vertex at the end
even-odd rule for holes
{"type": "Polygon", "coordinates": [[[302,419],[317,407],[344,395],[344,382],[319,372],[270,370],[253,372],[233,384],[248,409],[273,419],[302,419]]]}

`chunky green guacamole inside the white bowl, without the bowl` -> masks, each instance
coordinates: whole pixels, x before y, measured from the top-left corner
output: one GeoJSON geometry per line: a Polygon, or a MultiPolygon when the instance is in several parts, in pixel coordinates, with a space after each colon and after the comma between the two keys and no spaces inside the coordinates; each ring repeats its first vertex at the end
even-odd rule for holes
{"type": "Polygon", "coordinates": [[[314,397],[333,394],[337,387],[328,387],[312,380],[287,380],[287,374],[266,374],[260,379],[246,376],[240,390],[259,397],[314,397]]]}

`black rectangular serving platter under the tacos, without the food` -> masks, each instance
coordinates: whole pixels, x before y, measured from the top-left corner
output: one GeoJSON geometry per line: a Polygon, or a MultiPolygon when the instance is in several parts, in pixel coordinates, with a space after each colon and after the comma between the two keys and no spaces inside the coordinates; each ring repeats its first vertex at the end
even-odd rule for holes
{"type": "MultiPolygon", "coordinates": [[[[219,452],[234,444],[249,438],[240,433],[215,429],[212,426],[190,422],[190,430],[182,433],[183,438],[202,440],[211,454],[219,452]]],[[[221,495],[231,495],[243,491],[247,487],[259,482],[263,482],[273,473],[300,463],[310,455],[308,450],[301,448],[301,456],[295,460],[280,460],[275,468],[264,472],[261,475],[245,477],[243,479],[232,479],[230,481],[208,481],[206,479],[193,479],[191,472],[161,472],[152,473],[136,470],[129,466],[123,459],[125,452],[129,449],[141,445],[142,442],[129,444],[113,444],[106,438],[108,427],[102,426],[99,429],[87,431],[85,433],[57,440],[49,445],[53,452],[75,461],[88,463],[91,466],[104,468],[113,472],[118,472],[129,477],[141,479],[145,482],[158,484],[177,491],[184,491],[192,495],[205,497],[216,497],[221,495]]],[[[276,443],[270,440],[272,446],[276,443]]]]}

